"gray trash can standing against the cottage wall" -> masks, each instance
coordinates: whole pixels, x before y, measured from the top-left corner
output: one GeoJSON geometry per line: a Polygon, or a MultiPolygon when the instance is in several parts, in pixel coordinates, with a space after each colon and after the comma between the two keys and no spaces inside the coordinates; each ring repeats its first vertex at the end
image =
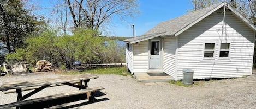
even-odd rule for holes
{"type": "Polygon", "coordinates": [[[183,69],[183,84],[192,85],[193,84],[193,74],[194,70],[192,69],[183,69]]]}

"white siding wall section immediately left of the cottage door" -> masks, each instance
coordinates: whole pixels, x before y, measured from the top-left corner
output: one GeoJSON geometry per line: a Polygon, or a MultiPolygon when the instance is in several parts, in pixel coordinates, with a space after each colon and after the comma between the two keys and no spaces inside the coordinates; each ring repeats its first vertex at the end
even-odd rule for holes
{"type": "Polygon", "coordinates": [[[149,60],[148,40],[133,44],[133,72],[147,72],[149,60]]]}

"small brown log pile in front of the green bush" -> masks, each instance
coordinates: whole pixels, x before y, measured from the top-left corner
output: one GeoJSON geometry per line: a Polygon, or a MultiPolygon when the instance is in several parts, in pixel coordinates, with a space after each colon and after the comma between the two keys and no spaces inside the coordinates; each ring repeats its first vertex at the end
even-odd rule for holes
{"type": "Polygon", "coordinates": [[[35,66],[35,71],[54,71],[52,64],[46,60],[40,60],[35,66]]]}

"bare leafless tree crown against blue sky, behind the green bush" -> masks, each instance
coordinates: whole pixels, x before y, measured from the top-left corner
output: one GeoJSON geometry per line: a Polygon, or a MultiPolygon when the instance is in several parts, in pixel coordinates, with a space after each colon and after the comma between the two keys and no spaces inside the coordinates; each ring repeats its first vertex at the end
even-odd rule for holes
{"type": "Polygon", "coordinates": [[[138,13],[136,0],[65,0],[75,27],[98,31],[112,16],[121,19],[138,13]]]}

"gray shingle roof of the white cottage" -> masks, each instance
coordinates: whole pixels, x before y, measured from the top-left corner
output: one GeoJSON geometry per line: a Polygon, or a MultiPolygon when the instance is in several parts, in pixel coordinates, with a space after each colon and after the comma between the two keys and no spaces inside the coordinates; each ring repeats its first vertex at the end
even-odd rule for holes
{"type": "MultiPolygon", "coordinates": [[[[124,40],[124,42],[136,43],[148,39],[153,39],[154,37],[158,36],[177,36],[181,34],[184,30],[192,27],[195,23],[203,20],[203,18],[209,16],[210,14],[212,14],[212,12],[215,12],[226,4],[227,2],[220,2],[211,5],[210,7],[206,7],[174,19],[161,22],[152,29],[148,30],[145,34],[138,37],[126,39],[124,40]]],[[[231,8],[230,5],[228,5],[227,8],[233,11],[236,16],[240,17],[244,22],[246,22],[250,27],[255,30],[254,25],[250,24],[251,22],[249,22],[245,17],[241,16],[241,14],[239,14],[235,9],[231,8]]]]}

